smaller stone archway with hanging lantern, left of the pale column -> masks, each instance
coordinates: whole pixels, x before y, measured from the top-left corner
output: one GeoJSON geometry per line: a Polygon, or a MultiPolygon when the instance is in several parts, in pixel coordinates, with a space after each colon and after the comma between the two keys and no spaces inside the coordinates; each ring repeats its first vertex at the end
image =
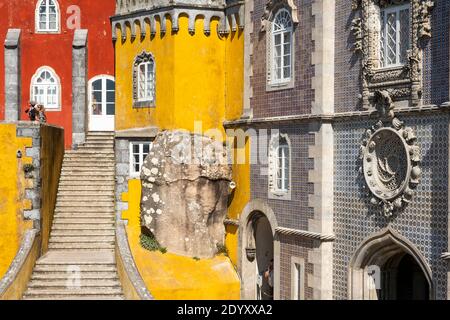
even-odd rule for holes
{"type": "Polygon", "coordinates": [[[273,260],[273,299],[279,299],[280,244],[276,237],[278,223],[273,210],[262,200],[247,204],[240,217],[239,264],[241,276],[241,299],[270,299],[267,282],[259,279],[273,260]],[[262,285],[258,292],[257,284],[262,285]],[[260,295],[261,293],[261,295],[260,295]]]}

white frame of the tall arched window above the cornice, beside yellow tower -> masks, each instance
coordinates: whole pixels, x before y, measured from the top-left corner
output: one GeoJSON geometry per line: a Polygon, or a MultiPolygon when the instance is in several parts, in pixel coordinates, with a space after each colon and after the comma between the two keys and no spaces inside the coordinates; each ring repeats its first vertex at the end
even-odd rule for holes
{"type": "Polygon", "coordinates": [[[280,10],[277,11],[277,13],[275,14],[273,20],[272,20],[272,28],[271,28],[271,45],[270,45],[270,85],[272,86],[283,86],[286,84],[289,84],[292,81],[293,78],[293,67],[294,67],[294,63],[293,63],[293,55],[294,55],[294,45],[293,45],[293,39],[294,39],[294,21],[292,20],[292,15],[291,13],[282,8],[280,10]],[[275,21],[277,20],[277,18],[282,14],[285,13],[287,15],[289,15],[290,18],[290,26],[288,28],[282,29],[282,30],[275,30],[275,21]],[[289,69],[290,69],[290,73],[289,73],[289,77],[285,77],[284,76],[284,62],[285,62],[285,52],[284,52],[284,46],[285,46],[285,42],[284,42],[284,35],[286,33],[289,33],[289,69]],[[275,63],[275,37],[277,35],[280,35],[280,46],[281,46],[281,78],[276,78],[276,63],[275,63]]]}

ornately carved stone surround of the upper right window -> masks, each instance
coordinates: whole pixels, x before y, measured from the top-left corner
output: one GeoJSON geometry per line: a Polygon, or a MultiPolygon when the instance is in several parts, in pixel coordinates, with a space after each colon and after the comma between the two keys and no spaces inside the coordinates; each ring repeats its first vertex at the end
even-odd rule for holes
{"type": "Polygon", "coordinates": [[[352,21],[355,38],[354,52],[361,58],[362,106],[370,109],[376,90],[388,90],[393,101],[406,101],[418,106],[422,100],[423,48],[431,38],[431,11],[429,0],[353,0],[352,9],[359,15],[352,21]],[[379,35],[371,23],[380,8],[410,3],[411,48],[408,63],[400,67],[378,68],[379,35]]]}

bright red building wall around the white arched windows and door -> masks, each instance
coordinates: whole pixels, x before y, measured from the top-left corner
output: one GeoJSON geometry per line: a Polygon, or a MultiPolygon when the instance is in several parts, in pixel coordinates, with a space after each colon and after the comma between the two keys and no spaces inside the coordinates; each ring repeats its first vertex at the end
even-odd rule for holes
{"type": "MultiPolygon", "coordinates": [[[[30,83],[37,69],[53,68],[61,80],[61,110],[48,111],[51,124],[65,129],[66,147],[72,143],[72,41],[74,29],[67,20],[73,18],[68,8],[80,8],[81,28],[88,29],[88,78],[97,75],[114,76],[114,47],[109,18],[115,11],[115,0],[58,0],[61,16],[59,34],[35,33],[35,10],[38,0],[0,0],[0,119],[4,119],[4,46],[9,28],[22,30],[21,38],[21,118],[30,100],[30,83]],[[5,22],[3,22],[6,20],[5,22]]],[[[71,20],[72,21],[72,20],[71,20]]]]}

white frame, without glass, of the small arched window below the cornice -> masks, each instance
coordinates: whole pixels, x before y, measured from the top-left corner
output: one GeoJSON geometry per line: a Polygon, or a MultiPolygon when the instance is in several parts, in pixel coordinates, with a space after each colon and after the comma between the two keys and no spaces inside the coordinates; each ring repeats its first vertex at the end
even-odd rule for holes
{"type": "MultiPolygon", "coordinates": [[[[285,167],[283,167],[285,169],[285,167]]],[[[292,147],[291,147],[291,141],[289,139],[289,136],[287,134],[275,134],[272,136],[269,144],[269,199],[277,199],[277,200],[291,200],[291,190],[292,190],[292,147]],[[289,167],[288,172],[289,176],[287,177],[286,182],[286,176],[285,170],[282,172],[281,179],[285,178],[284,180],[284,188],[278,188],[278,180],[279,178],[279,150],[280,150],[280,142],[282,140],[286,141],[286,148],[289,152],[288,157],[286,157],[286,160],[288,161],[289,167]]]]}

